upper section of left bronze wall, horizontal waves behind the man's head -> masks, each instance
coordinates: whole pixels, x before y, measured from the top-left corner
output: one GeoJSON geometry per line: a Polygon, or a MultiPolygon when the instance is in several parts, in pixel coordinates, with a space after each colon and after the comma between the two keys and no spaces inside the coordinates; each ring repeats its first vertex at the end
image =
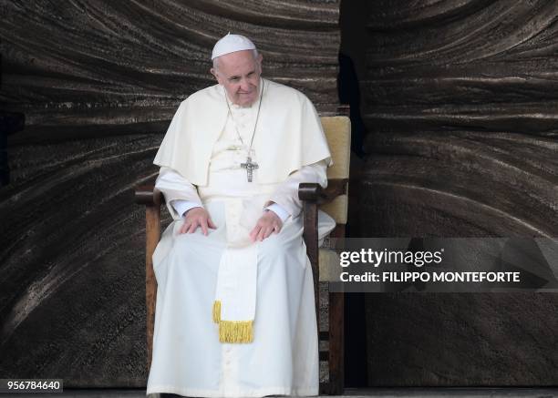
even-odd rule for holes
{"type": "Polygon", "coordinates": [[[153,109],[214,84],[212,46],[232,31],[261,50],[264,76],[331,107],[337,8],[325,0],[9,2],[0,9],[0,100],[26,109],[27,126],[152,120],[153,109]]]}

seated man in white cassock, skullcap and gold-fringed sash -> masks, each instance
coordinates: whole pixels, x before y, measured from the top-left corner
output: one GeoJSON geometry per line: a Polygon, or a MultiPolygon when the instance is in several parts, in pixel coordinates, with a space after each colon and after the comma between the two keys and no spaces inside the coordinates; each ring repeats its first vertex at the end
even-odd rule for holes
{"type": "MultiPolygon", "coordinates": [[[[213,48],[207,87],[181,103],[154,163],[174,221],[158,282],[147,393],[316,395],[312,269],[298,184],[325,187],[320,120],[299,91],[260,77],[244,36],[213,48]]],[[[321,214],[323,236],[335,223],[321,214]]]]}

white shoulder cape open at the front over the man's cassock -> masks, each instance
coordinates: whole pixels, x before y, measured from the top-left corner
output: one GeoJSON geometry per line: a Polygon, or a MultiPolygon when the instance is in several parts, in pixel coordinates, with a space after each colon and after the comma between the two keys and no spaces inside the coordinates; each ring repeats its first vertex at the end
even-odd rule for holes
{"type": "MultiPolygon", "coordinates": [[[[303,166],[331,155],[312,102],[300,91],[264,80],[260,119],[253,138],[258,183],[284,181],[303,166]]],[[[207,185],[212,148],[225,126],[228,108],[221,85],[181,102],[154,164],[173,168],[198,186],[207,185]]]]}

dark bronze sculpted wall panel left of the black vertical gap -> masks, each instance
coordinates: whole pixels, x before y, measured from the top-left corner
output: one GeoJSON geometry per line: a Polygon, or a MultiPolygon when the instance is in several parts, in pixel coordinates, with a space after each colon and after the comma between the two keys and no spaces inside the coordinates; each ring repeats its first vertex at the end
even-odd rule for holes
{"type": "Polygon", "coordinates": [[[0,190],[0,374],[143,386],[133,187],[229,31],[253,38],[265,77],[334,107],[338,1],[2,1],[0,16],[0,108],[26,117],[0,190]]]}

